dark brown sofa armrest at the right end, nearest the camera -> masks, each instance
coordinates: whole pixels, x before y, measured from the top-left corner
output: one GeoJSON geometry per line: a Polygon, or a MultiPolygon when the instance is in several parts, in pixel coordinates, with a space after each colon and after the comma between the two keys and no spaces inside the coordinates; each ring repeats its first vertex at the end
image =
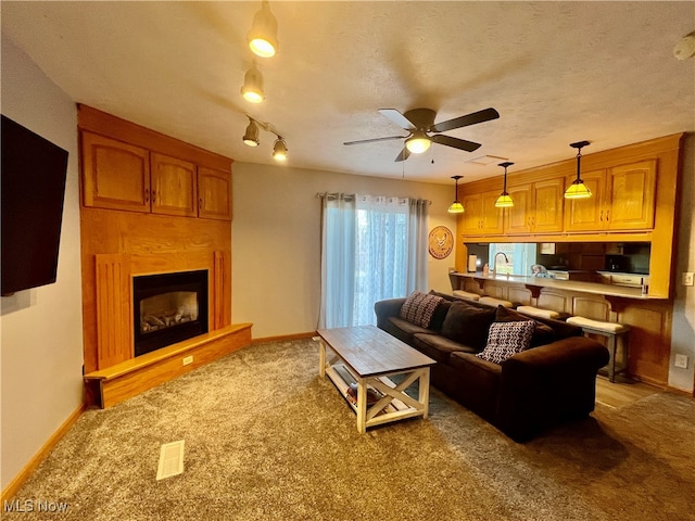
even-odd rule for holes
{"type": "Polygon", "coordinates": [[[608,350],[574,336],[514,355],[502,364],[497,427],[516,441],[594,410],[596,373],[608,350]]]}

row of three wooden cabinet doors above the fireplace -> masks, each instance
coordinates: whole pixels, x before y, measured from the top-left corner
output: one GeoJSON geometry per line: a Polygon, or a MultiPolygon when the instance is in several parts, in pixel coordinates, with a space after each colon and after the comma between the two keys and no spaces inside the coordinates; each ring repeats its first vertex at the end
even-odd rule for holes
{"type": "Polygon", "coordinates": [[[231,219],[231,173],[81,132],[85,206],[231,219]]]}

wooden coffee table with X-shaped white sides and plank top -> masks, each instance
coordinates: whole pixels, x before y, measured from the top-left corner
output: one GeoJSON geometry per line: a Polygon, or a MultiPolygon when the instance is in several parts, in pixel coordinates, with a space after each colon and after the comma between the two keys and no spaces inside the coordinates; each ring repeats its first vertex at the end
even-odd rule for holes
{"type": "Polygon", "coordinates": [[[375,326],[318,330],[319,366],[321,378],[328,376],[343,397],[357,412],[357,430],[421,416],[428,417],[430,394],[430,366],[435,360],[401,342],[375,326]],[[334,354],[327,360],[327,350],[334,354]],[[389,377],[404,374],[394,383],[389,377]],[[357,397],[350,391],[351,380],[356,384],[357,397]],[[418,398],[405,389],[418,381],[418,398]],[[368,406],[367,394],[376,395],[368,406]]]}

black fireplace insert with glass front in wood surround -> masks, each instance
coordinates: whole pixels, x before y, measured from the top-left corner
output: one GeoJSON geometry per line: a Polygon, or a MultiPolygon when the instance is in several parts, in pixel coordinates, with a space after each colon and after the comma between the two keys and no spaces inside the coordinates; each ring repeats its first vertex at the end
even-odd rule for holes
{"type": "Polygon", "coordinates": [[[207,270],[132,278],[135,356],[207,332],[207,270]]]}

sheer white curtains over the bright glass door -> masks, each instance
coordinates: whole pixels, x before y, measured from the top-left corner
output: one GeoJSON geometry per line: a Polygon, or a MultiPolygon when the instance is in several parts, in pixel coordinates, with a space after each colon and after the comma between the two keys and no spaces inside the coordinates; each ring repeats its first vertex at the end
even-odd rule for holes
{"type": "Polygon", "coordinates": [[[376,323],[374,303],[427,291],[428,201],[324,194],[319,328],[376,323]]]}

